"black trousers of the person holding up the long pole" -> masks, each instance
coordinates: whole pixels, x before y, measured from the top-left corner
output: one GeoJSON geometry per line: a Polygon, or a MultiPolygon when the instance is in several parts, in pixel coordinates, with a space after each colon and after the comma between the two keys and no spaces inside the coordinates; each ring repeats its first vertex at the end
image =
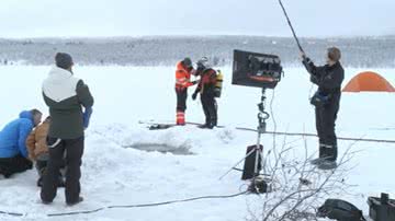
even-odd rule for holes
{"type": "Polygon", "coordinates": [[[316,129],[319,139],[319,158],[336,161],[338,155],[337,137],[335,132],[339,105],[329,103],[316,107],[316,129]]]}

